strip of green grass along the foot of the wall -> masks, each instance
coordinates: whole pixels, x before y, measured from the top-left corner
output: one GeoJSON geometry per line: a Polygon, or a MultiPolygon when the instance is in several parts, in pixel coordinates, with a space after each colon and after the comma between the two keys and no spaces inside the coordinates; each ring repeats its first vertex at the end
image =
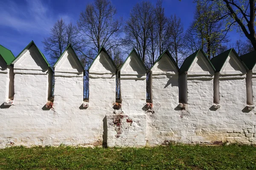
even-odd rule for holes
{"type": "Polygon", "coordinates": [[[245,170],[256,169],[256,147],[169,145],[143,148],[9,147],[0,170],[245,170]]]}

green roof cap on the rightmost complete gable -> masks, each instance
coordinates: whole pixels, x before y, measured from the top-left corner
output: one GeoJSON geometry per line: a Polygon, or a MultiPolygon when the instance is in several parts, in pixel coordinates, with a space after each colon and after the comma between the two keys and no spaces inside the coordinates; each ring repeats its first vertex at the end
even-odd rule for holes
{"type": "Polygon", "coordinates": [[[234,50],[234,48],[230,48],[227,51],[224,51],[223,53],[217,55],[216,57],[213,57],[211,59],[212,64],[214,65],[214,67],[216,68],[216,72],[221,71],[221,68],[223,67],[224,63],[227,60],[227,57],[230,55],[231,51],[233,51],[233,53],[235,54],[235,56],[237,57],[237,59],[241,62],[241,64],[244,66],[244,68],[246,70],[248,70],[247,66],[244,64],[244,62],[242,62],[242,60],[239,58],[238,54],[236,53],[236,51],[234,50]]]}

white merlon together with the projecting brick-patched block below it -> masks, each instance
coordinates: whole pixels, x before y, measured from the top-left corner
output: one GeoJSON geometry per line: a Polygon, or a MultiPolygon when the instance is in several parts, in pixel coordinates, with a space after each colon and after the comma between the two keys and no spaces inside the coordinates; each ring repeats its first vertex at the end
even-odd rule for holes
{"type": "Polygon", "coordinates": [[[108,146],[145,146],[146,70],[133,50],[120,70],[122,108],[107,115],[108,146]]]}

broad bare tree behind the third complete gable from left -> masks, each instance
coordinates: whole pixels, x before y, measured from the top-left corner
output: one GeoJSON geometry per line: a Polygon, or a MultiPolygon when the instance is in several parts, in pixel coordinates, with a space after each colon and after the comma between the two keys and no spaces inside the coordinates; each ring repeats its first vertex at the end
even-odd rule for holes
{"type": "Polygon", "coordinates": [[[115,15],[116,8],[110,0],[95,0],[81,12],[78,28],[87,54],[97,54],[102,46],[108,50],[121,44],[122,18],[115,19],[115,15]]]}

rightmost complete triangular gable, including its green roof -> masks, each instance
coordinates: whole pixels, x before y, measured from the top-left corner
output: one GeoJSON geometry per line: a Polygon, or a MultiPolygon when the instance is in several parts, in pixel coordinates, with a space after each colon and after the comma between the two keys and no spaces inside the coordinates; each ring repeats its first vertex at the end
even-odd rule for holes
{"type": "Polygon", "coordinates": [[[231,73],[240,71],[242,73],[248,70],[247,66],[239,58],[238,54],[233,48],[224,51],[216,57],[213,57],[211,62],[216,67],[216,72],[231,73]]]}

